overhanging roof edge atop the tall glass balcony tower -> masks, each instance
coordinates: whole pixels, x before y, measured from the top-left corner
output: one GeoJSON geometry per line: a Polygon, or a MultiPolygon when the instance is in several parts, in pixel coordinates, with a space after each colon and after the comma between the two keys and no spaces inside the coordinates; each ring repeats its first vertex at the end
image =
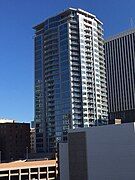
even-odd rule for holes
{"type": "Polygon", "coordinates": [[[68,8],[68,9],[65,9],[65,10],[57,13],[57,14],[54,15],[54,16],[50,16],[50,17],[46,18],[43,22],[41,22],[41,23],[37,24],[36,26],[34,26],[33,29],[37,30],[38,28],[41,28],[41,27],[44,25],[44,22],[45,22],[46,20],[51,19],[51,18],[53,18],[53,17],[56,17],[56,16],[58,16],[58,15],[64,15],[64,14],[68,13],[69,11],[76,11],[76,12],[78,12],[78,13],[80,13],[80,14],[87,15],[87,17],[93,18],[93,19],[95,19],[98,23],[103,24],[95,15],[93,15],[93,14],[91,14],[91,13],[89,13],[89,12],[83,10],[83,9],[80,9],[80,8],[72,8],[72,7],[70,7],[70,8],[68,8]]]}

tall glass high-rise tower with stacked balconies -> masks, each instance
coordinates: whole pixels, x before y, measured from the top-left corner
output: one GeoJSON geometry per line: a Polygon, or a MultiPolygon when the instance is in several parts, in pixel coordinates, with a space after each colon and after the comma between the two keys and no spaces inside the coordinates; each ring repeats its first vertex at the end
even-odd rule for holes
{"type": "Polygon", "coordinates": [[[35,29],[37,152],[52,152],[69,128],[107,122],[102,22],[69,8],[35,29]]]}

